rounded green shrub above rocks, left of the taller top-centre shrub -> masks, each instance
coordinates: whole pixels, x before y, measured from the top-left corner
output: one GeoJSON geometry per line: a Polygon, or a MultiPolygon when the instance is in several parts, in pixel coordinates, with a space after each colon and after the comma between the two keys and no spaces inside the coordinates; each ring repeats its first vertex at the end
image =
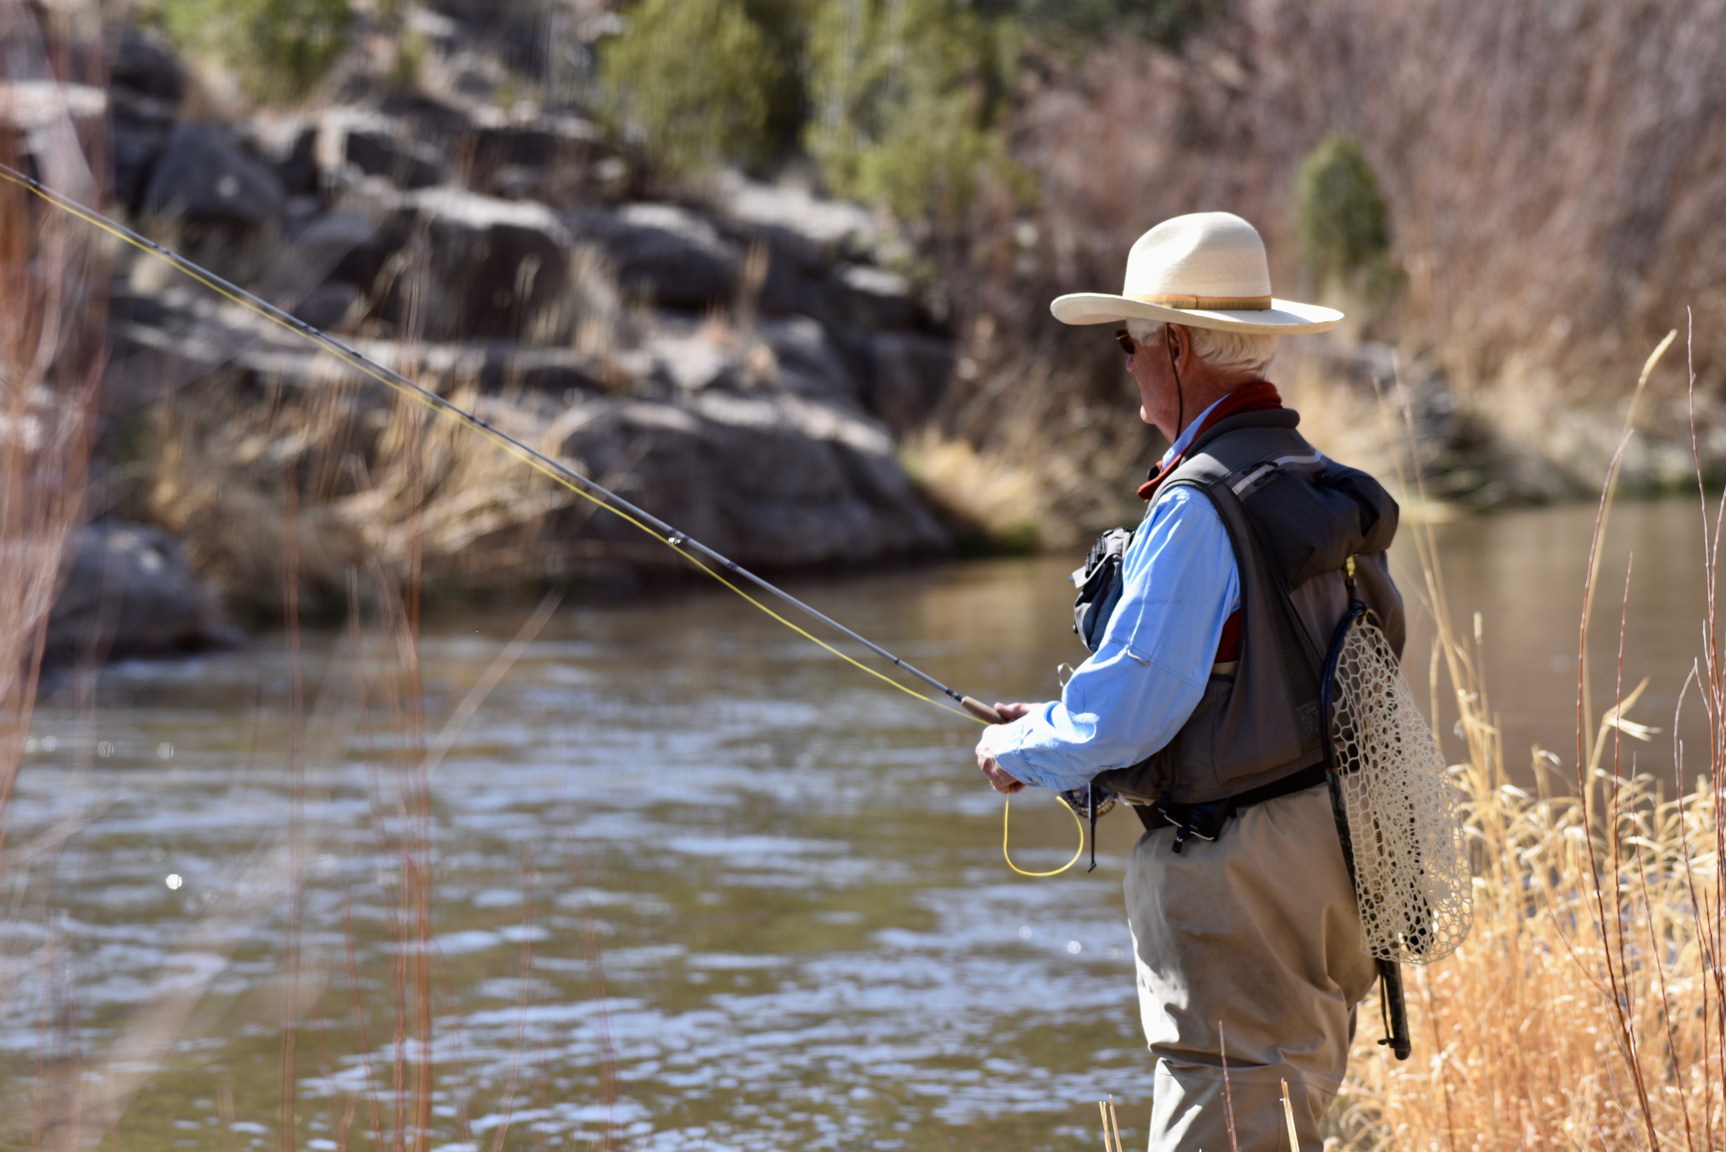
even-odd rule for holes
{"type": "Polygon", "coordinates": [[[780,62],[740,0],[640,0],[625,16],[599,62],[616,128],[671,176],[758,157],[780,62]]]}

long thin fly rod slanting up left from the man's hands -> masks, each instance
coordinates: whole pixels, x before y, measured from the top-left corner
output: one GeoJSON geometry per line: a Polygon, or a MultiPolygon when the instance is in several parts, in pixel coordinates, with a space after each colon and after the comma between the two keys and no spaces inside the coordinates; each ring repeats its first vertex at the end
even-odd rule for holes
{"type": "Polygon", "coordinates": [[[48,203],[55,205],[57,209],[60,209],[64,212],[69,212],[71,216],[76,216],[78,219],[85,221],[86,224],[93,224],[93,226],[107,231],[109,235],[119,236],[121,240],[124,240],[126,243],[129,243],[129,245],[133,245],[136,248],[143,248],[145,252],[150,252],[150,254],[154,254],[154,255],[167,260],[169,264],[173,264],[174,267],[178,267],[181,272],[185,272],[192,279],[197,279],[197,281],[204,283],[205,286],[214,288],[221,295],[228,297],[235,304],[242,304],[243,307],[250,309],[252,312],[255,312],[259,316],[264,316],[266,319],[274,321],[276,324],[280,324],[283,328],[288,328],[290,331],[299,333],[300,336],[304,336],[304,338],[311,340],[312,343],[323,347],[324,350],[335,354],[337,359],[345,360],[345,362],[349,362],[354,367],[362,367],[366,371],[366,374],[369,374],[369,376],[373,376],[376,379],[381,379],[385,383],[392,383],[397,388],[404,388],[404,390],[414,393],[416,397],[419,397],[425,404],[432,405],[433,409],[438,409],[438,410],[442,410],[442,412],[445,412],[449,416],[454,416],[456,419],[469,424],[471,428],[480,429],[482,433],[485,433],[492,440],[497,440],[497,441],[502,441],[502,443],[509,445],[511,448],[514,448],[516,452],[520,452],[523,457],[537,462],[544,469],[549,469],[549,471],[556,473],[557,476],[568,479],[570,483],[580,486],[583,491],[587,491],[589,495],[595,497],[595,500],[609,505],[613,510],[627,512],[630,517],[633,517],[640,524],[646,524],[646,526],[652,528],[656,533],[661,533],[661,540],[665,543],[671,545],[673,548],[680,548],[680,550],[682,548],[689,548],[689,550],[699,552],[701,555],[708,557],[709,560],[713,560],[715,564],[718,564],[725,571],[732,573],[734,576],[747,579],[749,583],[756,585],[763,592],[773,593],[775,597],[778,597],[785,604],[792,605],[799,612],[804,612],[806,616],[809,616],[813,619],[818,619],[820,623],[827,624],[828,628],[832,628],[834,631],[841,633],[842,636],[847,636],[849,640],[854,640],[854,642],[861,643],[865,648],[868,648],[875,655],[882,657],[884,661],[889,661],[894,667],[899,667],[899,669],[910,673],[911,676],[917,676],[918,679],[922,679],[930,688],[939,690],[942,695],[946,695],[951,700],[954,700],[960,707],[963,707],[967,712],[970,712],[977,719],[980,719],[980,721],[984,721],[987,724],[999,724],[999,723],[1003,723],[1001,714],[996,712],[987,704],[984,704],[982,700],[977,700],[975,697],[961,695],[961,693],[954,692],[953,688],[948,688],[944,683],[941,683],[939,679],[935,679],[929,673],[925,673],[925,671],[922,671],[922,669],[918,669],[918,667],[915,667],[911,664],[906,664],[904,661],[901,661],[899,657],[896,657],[892,652],[887,652],[887,648],[880,647],[873,640],[851,631],[849,628],[846,628],[839,621],[832,619],[825,612],[818,612],[813,607],[809,607],[808,604],[804,604],[803,600],[799,600],[797,597],[791,595],[789,592],[784,592],[782,588],[777,588],[777,586],[770,585],[768,581],[761,579],[759,576],[756,576],[749,569],[746,569],[740,564],[730,560],[728,557],[720,555],[718,552],[715,552],[708,545],[701,543],[699,540],[689,536],[687,533],[682,533],[682,531],[671,528],[670,524],[666,524],[665,521],[661,521],[658,516],[652,516],[651,512],[646,512],[646,510],[639,509],[637,505],[630,504],[628,500],[625,500],[618,493],[611,491],[609,488],[594,483],[587,476],[582,476],[580,473],[576,473],[573,467],[570,467],[563,460],[549,457],[544,452],[540,452],[539,448],[533,448],[532,445],[526,445],[526,443],[516,440],[514,436],[511,436],[509,433],[502,431],[501,428],[497,428],[490,421],[485,421],[485,419],[475,416],[473,412],[469,412],[469,410],[466,410],[463,407],[457,407],[456,404],[450,404],[449,400],[445,400],[438,393],[432,391],[430,388],[425,388],[425,386],[414,383],[413,379],[407,379],[400,373],[378,364],[371,357],[364,355],[362,352],[359,352],[357,348],[354,348],[354,347],[350,347],[347,343],[342,343],[340,340],[337,340],[330,333],[323,331],[321,328],[314,328],[314,326],[307,324],[306,321],[302,321],[300,317],[297,317],[297,316],[293,316],[290,312],[285,312],[283,309],[278,309],[276,305],[273,305],[273,304],[269,304],[266,300],[261,300],[259,297],[254,297],[245,288],[240,288],[238,285],[228,283],[226,279],[223,279],[216,272],[211,272],[209,269],[200,267],[198,264],[193,264],[192,260],[185,259],[178,252],[171,252],[171,250],[164,248],[162,245],[155,243],[154,240],[150,240],[147,236],[140,236],[138,233],[135,233],[133,229],[126,228],[124,224],[119,224],[117,221],[109,219],[107,216],[102,216],[95,209],[88,209],[83,203],[78,203],[76,200],[72,200],[69,197],[64,197],[64,195],[54,191],[52,188],[47,188],[40,181],[33,179],[31,176],[26,176],[24,172],[19,172],[17,169],[12,169],[12,167],[7,167],[5,164],[0,164],[0,176],[10,179],[16,185],[22,185],[24,188],[28,188],[29,191],[36,193],[38,197],[41,197],[48,203]]]}

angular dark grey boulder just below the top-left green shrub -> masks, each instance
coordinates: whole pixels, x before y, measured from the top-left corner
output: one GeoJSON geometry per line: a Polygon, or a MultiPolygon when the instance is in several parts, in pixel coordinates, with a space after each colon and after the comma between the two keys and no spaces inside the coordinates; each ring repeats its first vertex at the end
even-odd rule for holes
{"type": "Polygon", "coordinates": [[[217,124],[176,128],[143,193],[147,214],[247,229],[280,226],[283,207],[281,179],[217,124]]]}

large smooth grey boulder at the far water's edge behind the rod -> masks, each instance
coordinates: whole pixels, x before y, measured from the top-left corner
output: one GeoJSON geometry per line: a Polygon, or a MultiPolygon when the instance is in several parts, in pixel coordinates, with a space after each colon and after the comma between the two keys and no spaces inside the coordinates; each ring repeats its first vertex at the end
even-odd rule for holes
{"type": "MultiPolygon", "coordinates": [[[[564,454],[746,566],[951,550],[899,467],[892,438],[854,409],[784,391],[706,390],[677,402],[621,404],[571,435],[564,454]]],[[[637,543],[630,526],[608,516],[583,517],[575,533],[621,548],[637,543]]]]}

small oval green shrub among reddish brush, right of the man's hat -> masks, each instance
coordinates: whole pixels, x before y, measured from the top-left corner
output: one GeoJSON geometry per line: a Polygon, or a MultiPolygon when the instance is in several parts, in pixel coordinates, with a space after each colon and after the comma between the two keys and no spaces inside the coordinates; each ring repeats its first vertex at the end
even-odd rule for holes
{"type": "Polygon", "coordinates": [[[1307,264],[1320,279],[1389,272],[1389,209],[1377,176],[1348,136],[1326,136],[1294,174],[1294,212],[1307,264]]]}

